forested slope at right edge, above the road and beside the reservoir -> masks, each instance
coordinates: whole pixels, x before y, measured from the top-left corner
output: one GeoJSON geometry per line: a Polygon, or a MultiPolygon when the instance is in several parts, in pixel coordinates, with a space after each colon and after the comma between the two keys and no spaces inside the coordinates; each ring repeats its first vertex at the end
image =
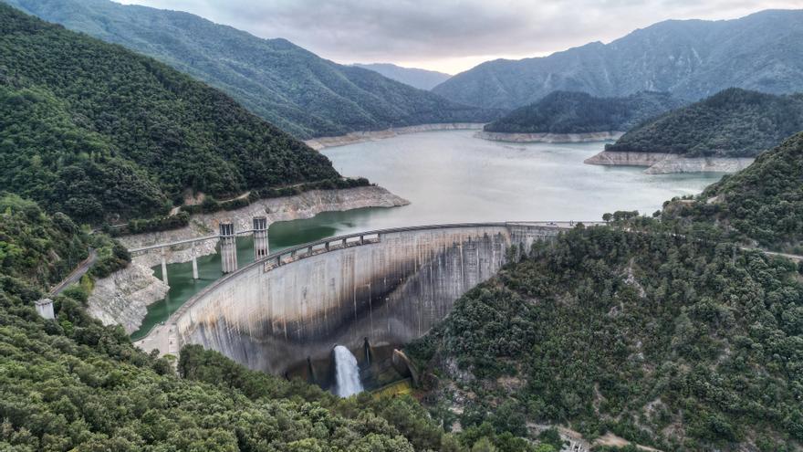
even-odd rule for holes
{"type": "Polygon", "coordinates": [[[663,220],[715,223],[735,239],[803,255],[803,132],[696,199],[668,204],[663,220]]]}

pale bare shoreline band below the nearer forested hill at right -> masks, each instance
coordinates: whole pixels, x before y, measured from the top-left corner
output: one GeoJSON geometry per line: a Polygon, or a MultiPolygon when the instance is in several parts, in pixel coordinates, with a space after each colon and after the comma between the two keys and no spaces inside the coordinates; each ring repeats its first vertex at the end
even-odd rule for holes
{"type": "Polygon", "coordinates": [[[664,152],[603,151],[584,163],[606,166],[643,166],[648,174],[669,173],[735,173],[755,159],[736,157],[683,157],[664,152]]]}

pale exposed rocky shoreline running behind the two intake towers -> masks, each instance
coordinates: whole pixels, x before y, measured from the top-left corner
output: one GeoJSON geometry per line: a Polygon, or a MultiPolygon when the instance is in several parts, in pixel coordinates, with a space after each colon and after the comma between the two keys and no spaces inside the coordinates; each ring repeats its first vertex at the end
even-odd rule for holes
{"type": "MultiPolygon", "coordinates": [[[[189,226],[170,231],[118,237],[127,248],[148,247],[193,237],[214,235],[221,221],[232,221],[235,230],[252,227],[254,216],[266,216],[268,226],[276,221],[311,218],[322,212],[339,212],[364,207],[396,207],[409,201],[380,186],[363,186],[338,190],[311,190],[280,198],[261,199],[232,211],[193,215],[189,226]]],[[[268,240],[270,237],[268,237],[268,240]]],[[[217,240],[206,240],[194,248],[194,256],[216,252],[217,240]]],[[[166,251],[168,263],[193,259],[193,247],[177,246],[166,251]]],[[[89,314],[105,325],[120,324],[129,334],[139,330],[151,303],[162,300],[169,287],[153,275],[151,267],[159,265],[158,252],[132,259],[131,264],[95,282],[89,297],[89,314]]]]}

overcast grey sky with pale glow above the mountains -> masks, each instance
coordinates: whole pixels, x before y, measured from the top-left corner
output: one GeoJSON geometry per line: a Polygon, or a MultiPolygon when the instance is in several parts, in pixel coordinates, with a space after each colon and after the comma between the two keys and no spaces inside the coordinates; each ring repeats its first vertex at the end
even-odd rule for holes
{"type": "Polygon", "coordinates": [[[676,18],[729,19],[803,0],[118,0],[284,37],[339,63],[457,73],[548,55],[676,18]]]}

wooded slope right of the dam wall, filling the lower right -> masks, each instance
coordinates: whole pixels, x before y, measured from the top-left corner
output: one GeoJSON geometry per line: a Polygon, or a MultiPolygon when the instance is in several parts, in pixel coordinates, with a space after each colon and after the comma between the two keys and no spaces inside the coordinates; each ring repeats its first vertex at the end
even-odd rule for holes
{"type": "Polygon", "coordinates": [[[471,290],[408,351],[464,428],[569,423],[662,450],[803,441],[796,267],[731,244],[578,228],[471,290]]]}

